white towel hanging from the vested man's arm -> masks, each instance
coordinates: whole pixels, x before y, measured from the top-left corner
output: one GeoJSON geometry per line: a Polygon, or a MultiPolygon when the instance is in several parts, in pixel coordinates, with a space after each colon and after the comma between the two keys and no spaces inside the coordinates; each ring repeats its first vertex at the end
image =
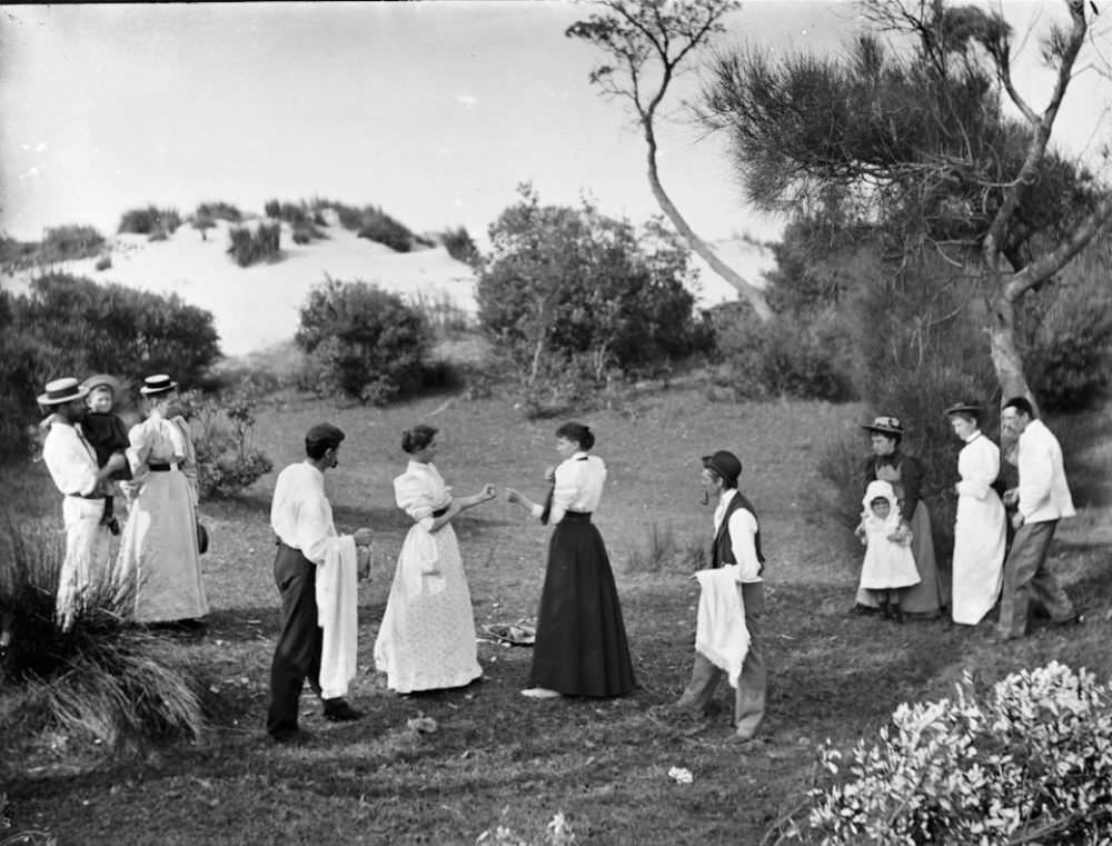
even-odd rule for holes
{"type": "Polygon", "coordinates": [[[699,570],[695,578],[703,589],[698,598],[695,649],[714,666],[726,670],[729,686],[737,687],[737,677],[742,675],[742,665],[749,651],[737,565],[699,570]]]}

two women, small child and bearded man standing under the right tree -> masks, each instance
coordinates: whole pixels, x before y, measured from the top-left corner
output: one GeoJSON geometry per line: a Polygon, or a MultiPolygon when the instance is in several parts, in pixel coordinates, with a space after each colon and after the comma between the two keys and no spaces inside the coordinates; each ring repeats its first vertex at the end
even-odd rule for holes
{"type": "MultiPolygon", "coordinates": [[[[1041,604],[1054,624],[1076,621],[1076,609],[1046,564],[1058,521],[1075,514],[1058,439],[1026,398],[1009,399],[1001,426],[1015,442],[1019,485],[1004,490],[1000,447],[980,427],[983,409],[959,402],[944,414],[963,444],[954,486],[953,621],[975,626],[997,600],[995,639],[1022,637],[1032,603],[1041,604]],[[1015,509],[1010,548],[1006,508],[1015,509]]],[[[866,551],[856,607],[878,608],[897,621],[905,614],[937,616],[945,601],[930,514],[920,495],[922,465],[901,449],[898,418],[877,417],[862,428],[870,432],[873,456],[865,465],[857,528],[866,551]]]]}

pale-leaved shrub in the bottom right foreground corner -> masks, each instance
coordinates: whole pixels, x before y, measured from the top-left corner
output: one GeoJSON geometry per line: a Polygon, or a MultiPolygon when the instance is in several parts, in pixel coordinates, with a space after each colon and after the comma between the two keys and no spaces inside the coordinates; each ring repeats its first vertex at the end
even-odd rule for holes
{"type": "Polygon", "coordinates": [[[823,846],[1098,844],[1112,837],[1112,687],[1056,661],[901,705],[880,742],[827,746],[834,783],[788,835],[823,846]]]}

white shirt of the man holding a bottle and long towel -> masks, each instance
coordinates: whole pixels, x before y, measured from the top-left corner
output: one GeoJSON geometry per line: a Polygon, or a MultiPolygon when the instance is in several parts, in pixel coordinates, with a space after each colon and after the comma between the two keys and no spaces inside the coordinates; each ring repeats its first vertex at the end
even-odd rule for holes
{"type": "Polygon", "coordinates": [[[301,550],[316,565],[340,540],[332,524],[332,507],[325,496],[325,475],[308,461],[290,465],[275,482],[270,526],[286,546],[301,550]]]}

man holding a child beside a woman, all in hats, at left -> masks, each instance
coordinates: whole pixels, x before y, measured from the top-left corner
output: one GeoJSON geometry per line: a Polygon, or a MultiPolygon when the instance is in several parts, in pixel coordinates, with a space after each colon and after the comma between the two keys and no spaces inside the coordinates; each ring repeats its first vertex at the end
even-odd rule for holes
{"type": "Polygon", "coordinates": [[[139,389],[146,418],[130,430],[113,406],[120,382],[100,374],[79,382],[56,379],[39,395],[50,415],[42,460],[62,495],[66,557],[56,614],[66,629],[91,586],[123,586],[138,623],[200,625],[208,614],[197,521],[197,459],[189,427],[172,400],[178,385],[165,374],[139,389]],[[128,515],[120,527],[120,495],[128,515]],[[120,535],[112,569],[110,537],[120,535]]]}

